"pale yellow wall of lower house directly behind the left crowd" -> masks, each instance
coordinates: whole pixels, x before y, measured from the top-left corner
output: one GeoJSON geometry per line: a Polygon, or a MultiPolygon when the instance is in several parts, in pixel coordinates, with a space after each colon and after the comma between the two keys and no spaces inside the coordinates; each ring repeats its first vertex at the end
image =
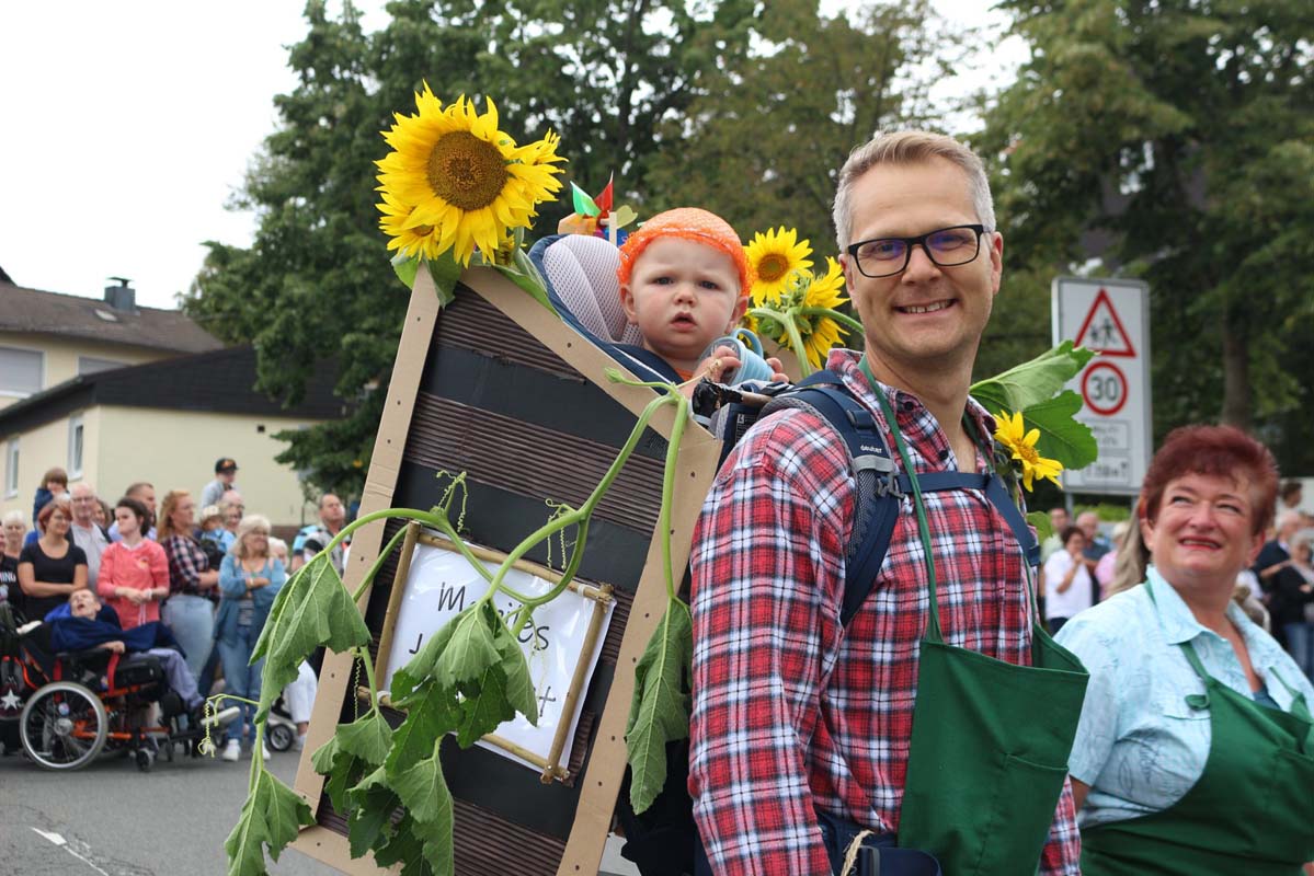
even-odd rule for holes
{"type": "MultiPolygon", "coordinates": [[[[214,478],[214,461],[227,456],[240,466],[237,486],[247,512],[263,514],[275,525],[301,525],[315,517],[296,471],[273,458],[286,447],[273,433],[313,420],[118,406],[97,406],[81,415],[83,477],[71,483],[91,482],[110,503],[134,481],[154,483],[158,502],[172,489],[200,498],[214,478]]],[[[0,436],[0,448],[8,437],[0,436]]],[[[30,512],[37,479],[54,465],[68,466],[67,416],[20,436],[18,494],[5,496],[0,510],[30,512]]]]}

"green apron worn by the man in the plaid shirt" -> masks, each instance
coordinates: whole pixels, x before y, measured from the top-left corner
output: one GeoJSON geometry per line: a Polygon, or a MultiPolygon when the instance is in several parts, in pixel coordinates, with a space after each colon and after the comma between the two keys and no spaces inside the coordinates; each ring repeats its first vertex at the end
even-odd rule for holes
{"type": "Polygon", "coordinates": [[[1035,873],[1058,809],[1088,675],[1045,630],[1031,603],[1031,666],[943,640],[921,487],[894,411],[871,382],[912,482],[930,611],[917,666],[899,846],[940,860],[945,876],[1035,873]]]}

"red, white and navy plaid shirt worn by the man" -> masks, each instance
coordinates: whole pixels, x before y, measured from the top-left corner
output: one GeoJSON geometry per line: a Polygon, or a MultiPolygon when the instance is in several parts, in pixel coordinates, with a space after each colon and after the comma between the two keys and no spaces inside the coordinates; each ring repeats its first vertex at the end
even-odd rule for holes
{"type": "MultiPolygon", "coordinates": [[[[883,428],[857,356],[832,353],[828,366],[883,428]]],[[[934,416],[908,393],[887,387],[886,398],[915,468],[955,470],[934,416]]],[[[968,412],[993,432],[975,401],[968,412]]],[[[930,605],[924,550],[909,496],[846,632],[840,604],[854,498],[840,437],[812,414],[786,411],[745,436],[703,506],[690,561],[689,789],[719,876],[829,873],[813,809],[899,830],[930,605]]],[[[929,493],[925,506],[945,641],[1029,665],[1031,613],[1008,524],[976,490],[929,493]]],[[[1064,784],[1041,872],[1079,873],[1079,856],[1064,784]]]]}

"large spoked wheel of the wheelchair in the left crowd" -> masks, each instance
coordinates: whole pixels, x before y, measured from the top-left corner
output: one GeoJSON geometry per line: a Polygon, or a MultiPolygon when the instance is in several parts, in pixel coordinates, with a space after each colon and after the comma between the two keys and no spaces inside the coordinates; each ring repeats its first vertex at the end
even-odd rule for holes
{"type": "Polygon", "coordinates": [[[18,718],[24,750],[45,770],[80,770],[105,747],[108,733],[105,705],[72,682],[33,693],[18,718]]]}

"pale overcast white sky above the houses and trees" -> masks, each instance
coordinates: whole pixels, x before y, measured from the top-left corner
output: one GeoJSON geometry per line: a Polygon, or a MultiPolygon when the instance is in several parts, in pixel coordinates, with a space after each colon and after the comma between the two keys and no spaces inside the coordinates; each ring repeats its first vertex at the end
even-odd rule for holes
{"type": "MultiPolygon", "coordinates": [[[[972,24],[986,5],[940,3],[972,24]]],[[[385,24],[382,0],[357,7],[367,30],[385,24]]],[[[173,307],[202,240],[250,244],[254,217],[225,204],[275,129],[273,96],[294,85],[286,46],[305,34],[302,9],[0,1],[0,268],[96,298],[106,277],[129,277],[138,303],[173,307]]]]}

